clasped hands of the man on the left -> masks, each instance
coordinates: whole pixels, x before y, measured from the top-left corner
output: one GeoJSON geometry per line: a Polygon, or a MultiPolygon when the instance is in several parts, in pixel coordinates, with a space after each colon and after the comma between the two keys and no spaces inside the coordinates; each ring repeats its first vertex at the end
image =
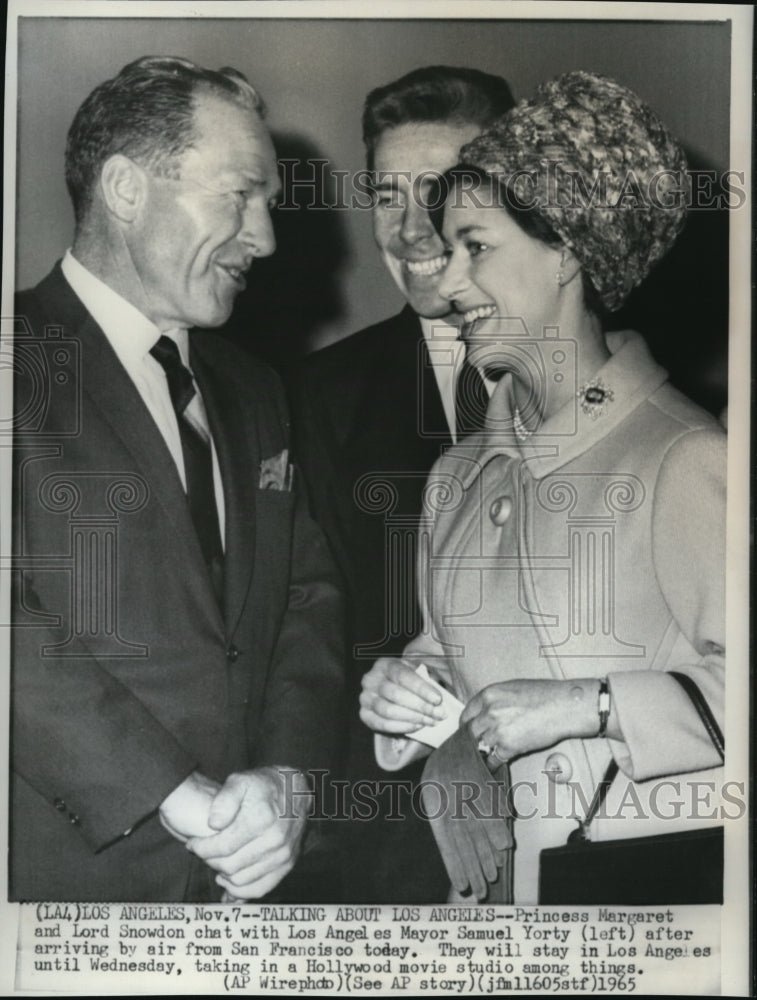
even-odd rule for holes
{"type": "Polygon", "coordinates": [[[191,774],[161,804],[163,826],[218,872],[227,896],[257,899],[294,866],[311,795],[305,776],[262,767],[223,785],[191,774]]]}

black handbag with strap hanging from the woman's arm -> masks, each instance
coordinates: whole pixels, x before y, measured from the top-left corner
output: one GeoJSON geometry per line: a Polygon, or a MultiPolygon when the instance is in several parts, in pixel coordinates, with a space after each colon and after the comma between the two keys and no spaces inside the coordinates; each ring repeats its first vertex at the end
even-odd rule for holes
{"type": "MultiPolygon", "coordinates": [[[[725,740],[710,706],[687,675],[670,673],[691,699],[721,760],[725,740]]],[[[673,905],[723,902],[723,827],[591,841],[588,828],[618,773],[610,762],[586,818],[563,847],[539,856],[539,902],[673,905]]]]}

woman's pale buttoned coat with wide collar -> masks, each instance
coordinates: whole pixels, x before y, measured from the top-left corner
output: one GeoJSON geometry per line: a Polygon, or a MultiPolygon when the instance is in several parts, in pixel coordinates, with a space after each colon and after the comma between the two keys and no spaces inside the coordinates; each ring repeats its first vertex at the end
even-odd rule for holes
{"type": "MultiPolygon", "coordinates": [[[[505,376],[487,430],[436,463],[426,493],[425,625],[406,655],[463,703],[497,681],[608,676],[623,733],[512,762],[516,902],[537,902],[539,851],[565,843],[610,753],[621,773],[592,839],[703,826],[719,804],[708,786],[697,798],[723,770],[665,672],[693,677],[722,724],[726,438],[637,334],[608,347],[601,412],[577,394],[519,442],[505,376]]],[[[381,736],[376,749],[389,769],[419,753],[381,736]]]]}

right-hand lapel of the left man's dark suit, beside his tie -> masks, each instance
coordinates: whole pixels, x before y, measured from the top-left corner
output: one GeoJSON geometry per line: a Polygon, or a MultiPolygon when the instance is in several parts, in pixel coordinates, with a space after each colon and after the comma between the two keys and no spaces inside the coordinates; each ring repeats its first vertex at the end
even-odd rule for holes
{"type": "Polygon", "coordinates": [[[257,440],[247,433],[245,415],[234,392],[233,373],[222,374],[213,358],[213,335],[190,337],[190,361],[208,414],[218,454],[226,508],[224,617],[233,634],[252,581],[255,552],[255,486],[260,467],[257,440]]]}

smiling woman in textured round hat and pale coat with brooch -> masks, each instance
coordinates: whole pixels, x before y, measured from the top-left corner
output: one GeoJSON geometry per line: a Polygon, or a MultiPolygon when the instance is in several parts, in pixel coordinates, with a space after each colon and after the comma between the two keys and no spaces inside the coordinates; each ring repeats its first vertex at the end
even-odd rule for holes
{"type": "Polygon", "coordinates": [[[539,852],[611,756],[592,840],[721,818],[720,759],[668,671],[722,718],[725,436],[638,334],[603,334],[684,222],[685,160],[654,113],[570,73],[461,160],[441,290],[494,388],[485,430],[431,473],[424,630],[367,674],[361,717],[395,769],[429,752],[401,737],[443,714],[418,665],[457,695],[510,762],[514,900],[534,903],[539,852]]]}

